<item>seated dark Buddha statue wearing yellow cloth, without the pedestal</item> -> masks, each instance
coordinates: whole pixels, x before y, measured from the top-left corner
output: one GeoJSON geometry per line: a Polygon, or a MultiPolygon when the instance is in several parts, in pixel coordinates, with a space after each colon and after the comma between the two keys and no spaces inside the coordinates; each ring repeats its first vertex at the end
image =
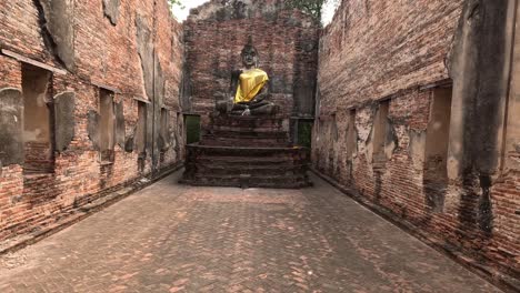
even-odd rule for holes
{"type": "Polygon", "coordinates": [[[229,98],[218,101],[217,110],[231,115],[274,114],[277,107],[267,101],[270,98],[269,77],[258,68],[259,55],[251,37],[242,49],[241,58],[243,68],[231,72],[229,98]]]}

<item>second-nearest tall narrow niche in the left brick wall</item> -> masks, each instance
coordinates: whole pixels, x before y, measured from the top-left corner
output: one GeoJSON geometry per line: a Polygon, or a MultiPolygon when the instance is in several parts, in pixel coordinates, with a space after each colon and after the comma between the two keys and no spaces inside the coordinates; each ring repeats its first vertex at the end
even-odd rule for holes
{"type": "Polygon", "coordinates": [[[99,148],[101,163],[112,163],[114,161],[116,146],[116,112],[113,105],[114,93],[100,89],[99,92],[99,148]]]}

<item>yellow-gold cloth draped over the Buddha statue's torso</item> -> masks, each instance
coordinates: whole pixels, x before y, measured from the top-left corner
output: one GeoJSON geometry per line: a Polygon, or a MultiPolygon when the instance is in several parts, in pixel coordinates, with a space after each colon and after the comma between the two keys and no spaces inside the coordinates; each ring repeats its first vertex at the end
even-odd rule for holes
{"type": "Polygon", "coordinates": [[[234,103],[250,102],[263,89],[269,81],[266,71],[251,69],[240,74],[240,84],[234,97],[234,103]]]}

